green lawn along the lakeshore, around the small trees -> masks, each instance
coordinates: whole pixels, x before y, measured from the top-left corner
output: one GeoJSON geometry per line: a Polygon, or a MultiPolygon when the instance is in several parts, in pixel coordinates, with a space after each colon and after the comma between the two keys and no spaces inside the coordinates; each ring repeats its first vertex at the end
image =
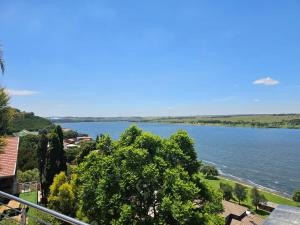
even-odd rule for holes
{"type": "MultiPolygon", "coordinates": [[[[230,184],[232,187],[234,187],[234,185],[237,183],[236,181],[233,180],[229,180],[223,177],[218,177],[216,179],[206,179],[204,176],[203,178],[205,179],[205,181],[212,186],[213,188],[219,189],[220,188],[220,182],[223,183],[227,183],[230,184]]],[[[244,185],[246,186],[246,185],[244,185]]],[[[255,207],[252,205],[251,203],[251,198],[250,198],[250,191],[251,191],[251,186],[246,186],[247,187],[247,192],[248,192],[248,197],[244,202],[241,202],[241,205],[246,206],[247,208],[251,209],[252,211],[255,210],[255,207]]],[[[274,193],[271,192],[267,192],[265,190],[260,190],[260,192],[266,197],[266,199],[270,202],[274,202],[277,204],[282,204],[282,205],[289,205],[289,206],[297,206],[300,207],[300,203],[297,203],[295,201],[293,201],[292,199],[288,199],[279,195],[276,195],[274,193]]],[[[236,199],[233,200],[234,202],[238,203],[238,201],[236,199]]],[[[263,210],[258,210],[256,212],[258,215],[260,215],[263,218],[266,218],[270,213],[263,211],[263,210]]]]}

